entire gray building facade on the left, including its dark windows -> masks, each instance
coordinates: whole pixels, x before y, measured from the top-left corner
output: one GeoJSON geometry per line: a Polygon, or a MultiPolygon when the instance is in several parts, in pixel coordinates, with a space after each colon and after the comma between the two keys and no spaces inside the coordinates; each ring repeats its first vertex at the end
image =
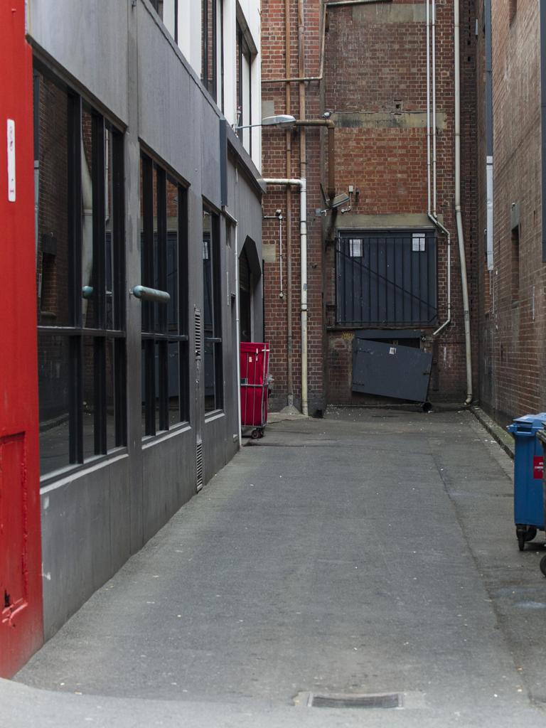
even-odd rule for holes
{"type": "Polygon", "coordinates": [[[240,446],[263,187],[149,0],[31,0],[27,28],[49,638],[240,446]]]}

